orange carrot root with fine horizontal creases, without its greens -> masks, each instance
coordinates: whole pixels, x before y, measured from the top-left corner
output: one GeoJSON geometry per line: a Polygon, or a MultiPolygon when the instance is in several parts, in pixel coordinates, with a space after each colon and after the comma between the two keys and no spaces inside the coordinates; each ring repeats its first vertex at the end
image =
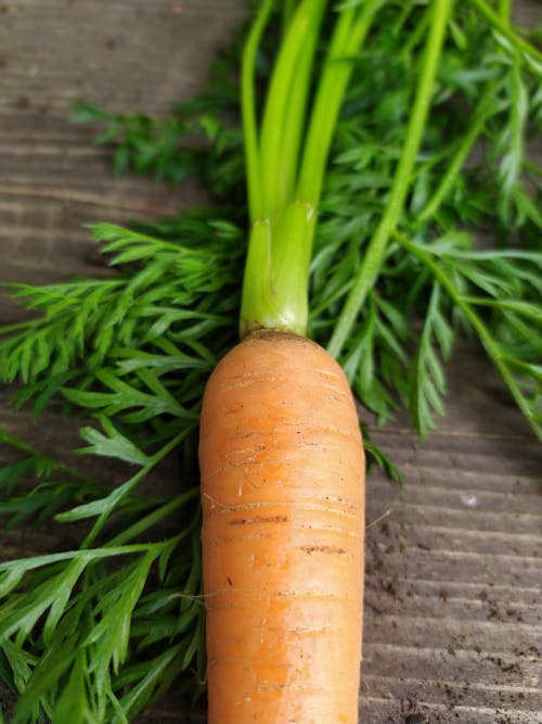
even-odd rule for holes
{"type": "Polygon", "coordinates": [[[203,404],[208,724],[357,724],[364,456],[346,377],[250,334],[203,404]]]}

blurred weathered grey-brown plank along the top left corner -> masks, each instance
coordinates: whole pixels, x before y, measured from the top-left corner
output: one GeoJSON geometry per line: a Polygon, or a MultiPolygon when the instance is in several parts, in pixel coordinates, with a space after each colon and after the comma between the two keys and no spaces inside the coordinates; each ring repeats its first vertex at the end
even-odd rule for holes
{"type": "Polygon", "coordinates": [[[0,113],[62,116],[81,97],[165,113],[201,84],[241,13],[231,0],[3,2],[0,113]]]}

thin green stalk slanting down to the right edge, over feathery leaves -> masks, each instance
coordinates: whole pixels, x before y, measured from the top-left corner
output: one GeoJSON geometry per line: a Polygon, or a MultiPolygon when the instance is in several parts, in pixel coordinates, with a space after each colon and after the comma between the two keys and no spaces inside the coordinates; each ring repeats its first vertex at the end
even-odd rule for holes
{"type": "Polygon", "coordinates": [[[434,275],[435,279],[441,284],[443,289],[449,293],[454,304],[462,310],[465,317],[468,319],[473,328],[478,333],[478,336],[486,350],[488,356],[493,361],[494,366],[499,370],[502,379],[504,380],[506,386],[508,388],[512,396],[516,401],[521,412],[525,415],[531,428],[534,430],[539,439],[542,439],[542,431],[537,420],[533,419],[532,412],[529,409],[528,404],[519,386],[517,385],[514,377],[512,376],[509,369],[505,365],[499,346],[495,344],[491,332],[483,323],[483,320],[476,314],[466,297],[464,297],[461,292],[456,289],[453,282],[448,277],[447,272],[442,267],[435,261],[431,254],[422,249],[418,244],[412,242],[408,237],[405,237],[400,231],[393,231],[395,240],[410,254],[416,256],[434,275]]]}

